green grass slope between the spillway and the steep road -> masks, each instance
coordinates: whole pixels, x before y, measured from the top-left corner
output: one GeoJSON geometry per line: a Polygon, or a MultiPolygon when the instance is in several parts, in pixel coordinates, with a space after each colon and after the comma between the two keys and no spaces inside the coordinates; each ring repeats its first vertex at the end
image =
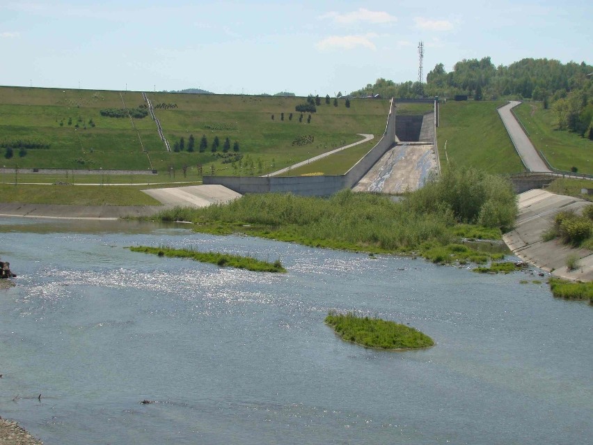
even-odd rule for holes
{"type": "Polygon", "coordinates": [[[441,165],[447,164],[448,157],[449,162],[459,166],[473,166],[489,173],[523,171],[521,159],[496,111],[503,104],[503,101],[441,104],[436,131],[441,165]]]}

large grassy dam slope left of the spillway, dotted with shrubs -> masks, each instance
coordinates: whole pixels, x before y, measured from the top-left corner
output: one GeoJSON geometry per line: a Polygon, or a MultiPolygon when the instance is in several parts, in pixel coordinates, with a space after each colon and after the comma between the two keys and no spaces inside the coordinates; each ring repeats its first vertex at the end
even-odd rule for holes
{"type": "MultiPolygon", "coordinates": [[[[143,104],[141,93],[121,94],[127,107],[143,104]]],[[[202,134],[206,134],[209,144],[214,136],[219,136],[221,143],[227,136],[231,143],[238,141],[241,153],[250,155],[255,162],[254,173],[258,173],[259,160],[264,173],[303,160],[308,155],[324,153],[342,143],[354,142],[359,139],[356,133],[381,134],[389,106],[386,100],[353,100],[349,109],[343,101],[338,107],[322,103],[311,123],[307,124],[307,114],[299,123],[299,114],[294,111],[296,104],[304,102],[299,97],[148,95],[153,104],[177,104],[175,109],[155,109],[172,146],[182,136],[186,144],[190,134],[196,138],[196,153],[166,153],[150,117],[134,119],[152,166],[160,171],[174,166],[179,171],[186,164],[190,173],[196,170],[197,164],[204,166],[204,173],[210,172],[211,164],[214,164],[216,174],[234,173],[229,164],[222,164],[221,159],[212,155],[210,147],[206,153],[197,153],[202,134]],[[280,120],[281,112],[285,113],[284,121],[280,120]],[[291,112],[293,119],[288,120],[291,112]],[[271,120],[271,114],[274,114],[274,120],[271,120]],[[313,135],[314,143],[292,146],[297,136],[304,135],[313,135]]],[[[49,149],[28,149],[25,157],[15,153],[12,159],[2,158],[1,164],[27,169],[102,167],[148,170],[148,156],[143,153],[129,118],[100,115],[101,109],[121,107],[122,98],[118,91],[0,87],[0,141],[24,139],[50,144],[49,149]],[[72,118],[71,125],[68,125],[69,118],[72,118]],[[90,119],[95,127],[89,125],[90,119]],[[74,127],[76,124],[78,129],[74,127]]]]}

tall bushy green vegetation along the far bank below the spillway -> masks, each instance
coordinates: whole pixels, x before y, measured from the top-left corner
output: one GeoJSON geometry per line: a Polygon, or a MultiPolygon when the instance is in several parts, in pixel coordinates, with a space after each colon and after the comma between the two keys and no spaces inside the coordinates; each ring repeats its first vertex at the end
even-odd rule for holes
{"type": "Polygon", "coordinates": [[[418,254],[436,263],[481,256],[483,263],[490,254],[457,244],[464,237],[460,233],[479,235],[482,229],[477,226],[485,226],[487,233],[500,237],[500,228],[512,226],[516,211],[509,182],[451,167],[397,203],[388,196],[350,190],[329,198],[253,194],[208,208],[165,210],[159,218],[191,221],[204,233],[246,233],[312,247],[418,254]],[[455,245],[432,257],[432,251],[449,244],[455,245]]]}

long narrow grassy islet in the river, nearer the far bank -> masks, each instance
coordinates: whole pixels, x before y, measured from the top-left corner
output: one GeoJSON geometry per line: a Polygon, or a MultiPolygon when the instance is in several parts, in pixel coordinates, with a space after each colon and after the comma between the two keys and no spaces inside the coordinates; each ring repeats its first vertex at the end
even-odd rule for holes
{"type": "Polygon", "coordinates": [[[218,252],[199,252],[192,249],[173,249],[171,247],[148,247],[132,246],[128,247],[133,252],[153,253],[158,256],[168,256],[171,258],[191,258],[202,263],[212,263],[221,267],[236,267],[237,269],[246,269],[253,272],[286,272],[285,267],[280,260],[274,263],[258,260],[251,256],[230,255],[228,253],[218,252]]]}

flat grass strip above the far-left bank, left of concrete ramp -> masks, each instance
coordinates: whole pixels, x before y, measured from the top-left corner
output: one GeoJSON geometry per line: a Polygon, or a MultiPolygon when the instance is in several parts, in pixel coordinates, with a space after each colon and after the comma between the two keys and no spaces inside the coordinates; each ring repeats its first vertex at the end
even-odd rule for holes
{"type": "Polygon", "coordinates": [[[141,186],[0,184],[3,203],[68,205],[160,205],[141,186]]]}

